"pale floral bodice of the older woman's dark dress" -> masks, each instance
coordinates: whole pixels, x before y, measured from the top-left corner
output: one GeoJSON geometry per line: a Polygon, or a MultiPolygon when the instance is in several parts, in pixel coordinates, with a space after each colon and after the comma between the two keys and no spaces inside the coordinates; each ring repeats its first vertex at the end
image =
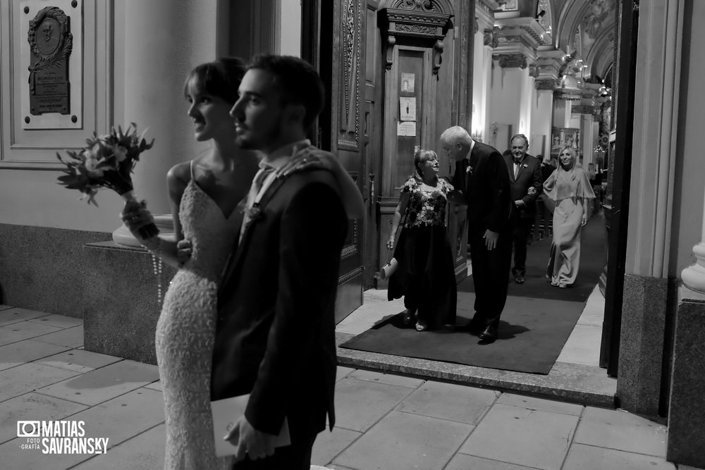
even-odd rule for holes
{"type": "Polygon", "coordinates": [[[409,193],[406,228],[429,225],[442,225],[446,220],[448,193],[453,185],[440,178],[435,187],[426,185],[416,178],[409,178],[401,188],[402,194],[409,193]]]}

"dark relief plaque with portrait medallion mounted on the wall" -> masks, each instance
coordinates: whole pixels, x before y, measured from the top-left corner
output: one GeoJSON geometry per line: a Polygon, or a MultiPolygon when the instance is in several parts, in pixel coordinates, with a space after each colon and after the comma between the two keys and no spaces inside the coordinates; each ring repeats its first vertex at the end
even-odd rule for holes
{"type": "Polygon", "coordinates": [[[71,18],[56,6],[47,6],[30,20],[30,113],[71,114],[68,63],[73,49],[71,18]]]}

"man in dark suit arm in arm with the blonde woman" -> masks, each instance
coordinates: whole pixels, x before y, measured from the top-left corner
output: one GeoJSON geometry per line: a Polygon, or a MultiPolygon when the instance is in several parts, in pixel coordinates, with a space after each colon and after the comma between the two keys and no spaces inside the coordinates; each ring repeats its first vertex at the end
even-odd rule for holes
{"type": "Polygon", "coordinates": [[[514,282],[524,283],[527,272],[527,242],[536,217],[536,199],[542,192],[541,161],[527,154],[529,139],[517,134],[511,140],[511,154],[504,157],[509,171],[512,201],[512,245],[514,247],[514,282]]]}

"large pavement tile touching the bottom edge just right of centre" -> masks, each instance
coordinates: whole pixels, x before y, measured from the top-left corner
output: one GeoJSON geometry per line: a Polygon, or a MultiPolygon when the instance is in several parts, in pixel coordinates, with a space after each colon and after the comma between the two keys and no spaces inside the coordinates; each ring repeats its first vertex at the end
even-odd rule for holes
{"type": "Polygon", "coordinates": [[[364,470],[443,469],[473,427],[391,412],[333,463],[364,470]]]}

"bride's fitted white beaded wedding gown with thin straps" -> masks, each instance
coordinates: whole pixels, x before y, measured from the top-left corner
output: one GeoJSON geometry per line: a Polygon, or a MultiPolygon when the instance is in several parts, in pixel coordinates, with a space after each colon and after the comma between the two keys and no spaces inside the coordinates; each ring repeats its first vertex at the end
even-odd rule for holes
{"type": "Polygon", "coordinates": [[[231,457],[215,456],[210,382],[218,281],[242,214],[235,209],[226,219],[192,176],[183,192],[179,218],[193,252],[171,280],[157,323],[157,363],[166,414],[164,468],[230,469],[231,457]]]}

